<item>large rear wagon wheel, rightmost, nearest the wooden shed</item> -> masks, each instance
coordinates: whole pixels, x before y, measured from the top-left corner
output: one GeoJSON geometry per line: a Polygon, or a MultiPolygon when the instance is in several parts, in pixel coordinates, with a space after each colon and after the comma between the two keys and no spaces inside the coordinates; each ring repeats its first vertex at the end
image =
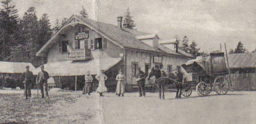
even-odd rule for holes
{"type": "Polygon", "coordinates": [[[225,95],[229,91],[229,82],[224,76],[219,76],[214,80],[213,88],[218,95],[225,95]]]}

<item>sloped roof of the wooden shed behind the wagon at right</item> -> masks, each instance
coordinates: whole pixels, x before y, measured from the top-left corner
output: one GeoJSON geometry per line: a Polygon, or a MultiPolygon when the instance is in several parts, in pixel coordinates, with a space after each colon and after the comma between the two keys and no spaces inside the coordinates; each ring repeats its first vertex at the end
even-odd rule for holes
{"type": "Polygon", "coordinates": [[[256,53],[229,54],[228,58],[231,69],[256,68],[256,53]]]}

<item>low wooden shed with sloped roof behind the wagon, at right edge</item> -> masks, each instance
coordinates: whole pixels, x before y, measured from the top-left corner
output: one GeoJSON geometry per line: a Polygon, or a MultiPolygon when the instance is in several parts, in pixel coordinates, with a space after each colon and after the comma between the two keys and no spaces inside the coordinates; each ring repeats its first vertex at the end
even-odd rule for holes
{"type": "Polygon", "coordinates": [[[256,53],[228,55],[231,89],[256,90],[256,53]]]}

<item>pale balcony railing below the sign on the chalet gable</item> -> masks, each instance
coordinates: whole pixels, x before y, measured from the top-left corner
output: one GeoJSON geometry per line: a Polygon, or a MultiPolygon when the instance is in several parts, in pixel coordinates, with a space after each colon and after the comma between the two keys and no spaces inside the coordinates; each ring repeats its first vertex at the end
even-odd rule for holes
{"type": "Polygon", "coordinates": [[[67,58],[71,60],[91,59],[91,49],[69,49],[67,58]]]}

